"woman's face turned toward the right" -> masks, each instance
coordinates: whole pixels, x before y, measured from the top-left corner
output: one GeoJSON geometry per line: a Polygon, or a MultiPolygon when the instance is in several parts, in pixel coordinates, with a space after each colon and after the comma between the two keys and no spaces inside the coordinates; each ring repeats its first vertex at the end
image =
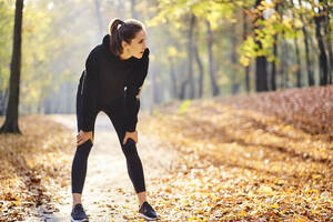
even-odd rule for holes
{"type": "Polygon", "coordinates": [[[137,59],[142,58],[142,54],[147,48],[145,38],[145,31],[142,29],[137,33],[135,38],[132,39],[130,44],[125,44],[125,50],[128,50],[130,56],[135,57],[137,59]]]}

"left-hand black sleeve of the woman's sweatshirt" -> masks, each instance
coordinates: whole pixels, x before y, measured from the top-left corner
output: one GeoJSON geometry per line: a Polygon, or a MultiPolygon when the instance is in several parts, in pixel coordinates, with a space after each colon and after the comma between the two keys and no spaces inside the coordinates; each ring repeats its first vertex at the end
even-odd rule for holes
{"type": "Polygon", "coordinates": [[[85,60],[85,72],[82,80],[82,130],[92,131],[98,104],[98,64],[97,58],[90,53],[85,60]]]}

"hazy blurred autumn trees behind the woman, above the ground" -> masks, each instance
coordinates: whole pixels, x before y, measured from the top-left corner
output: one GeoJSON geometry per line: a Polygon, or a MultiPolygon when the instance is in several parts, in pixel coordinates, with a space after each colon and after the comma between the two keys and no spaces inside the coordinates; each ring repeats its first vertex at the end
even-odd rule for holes
{"type": "MultiPolygon", "coordinates": [[[[0,114],[9,100],[14,0],[0,0],[0,114]]],[[[74,113],[92,48],[118,17],[151,50],[142,109],[174,100],[332,84],[332,1],[26,0],[19,113],[74,113]]]]}

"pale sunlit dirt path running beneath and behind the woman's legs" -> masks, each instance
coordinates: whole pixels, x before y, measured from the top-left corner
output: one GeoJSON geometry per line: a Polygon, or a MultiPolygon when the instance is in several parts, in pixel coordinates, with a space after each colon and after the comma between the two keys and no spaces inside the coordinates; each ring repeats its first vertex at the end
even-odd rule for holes
{"type": "MultiPolygon", "coordinates": [[[[74,138],[75,115],[52,118],[70,128],[74,138]]],[[[143,164],[148,195],[151,181],[154,178],[167,176],[176,158],[175,151],[160,148],[157,141],[139,132],[138,152],[143,164]]],[[[74,155],[74,148],[72,153],[74,155]]],[[[63,200],[56,203],[60,211],[49,219],[44,218],[44,221],[70,221],[72,204],[70,183],[60,192],[63,200]]],[[[121,151],[117,133],[104,113],[100,113],[95,122],[95,144],[88,160],[82,202],[91,221],[124,221],[124,219],[135,221],[137,219],[139,203],[128,175],[125,157],[121,151]]]]}

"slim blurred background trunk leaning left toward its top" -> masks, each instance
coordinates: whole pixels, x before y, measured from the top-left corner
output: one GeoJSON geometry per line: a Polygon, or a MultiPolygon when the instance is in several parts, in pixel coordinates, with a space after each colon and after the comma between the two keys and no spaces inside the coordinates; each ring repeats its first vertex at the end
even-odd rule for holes
{"type": "Polygon", "coordinates": [[[209,65],[210,65],[210,78],[211,78],[211,88],[213,97],[220,94],[220,89],[216,84],[215,73],[214,73],[214,59],[213,59],[213,34],[211,29],[211,23],[205,21],[206,23],[206,41],[208,41],[208,50],[209,50],[209,65]]]}

